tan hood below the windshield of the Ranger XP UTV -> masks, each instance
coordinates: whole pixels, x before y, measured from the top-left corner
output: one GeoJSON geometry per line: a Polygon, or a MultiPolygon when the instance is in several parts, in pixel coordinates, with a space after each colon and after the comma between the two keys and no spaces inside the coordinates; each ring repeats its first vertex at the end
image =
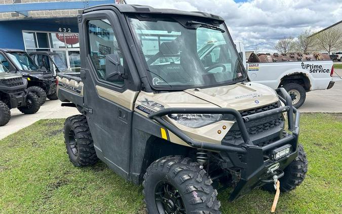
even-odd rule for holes
{"type": "MultiPolygon", "coordinates": [[[[278,95],[267,86],[248,82],[206,89],[187,89],[181,92],[140,93],[136,104],[140,101],[146,103],[145,99],[160,103],[164,108],[221,107],[242,111],[277,102],[278,95]]],[[[157,106],[153,110],[160,109],[157,106]]]]}

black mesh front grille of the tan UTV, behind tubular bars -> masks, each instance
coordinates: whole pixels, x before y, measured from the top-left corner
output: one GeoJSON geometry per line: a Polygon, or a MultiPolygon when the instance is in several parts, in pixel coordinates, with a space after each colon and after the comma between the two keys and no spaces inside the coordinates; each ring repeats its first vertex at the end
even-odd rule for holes
{"type": "MultiPolygon", "coordinates": [[[[240,112],[240,114],[241,114],[241,116],[244,117],[244,116],[256,114],[259,112],[264,112],[264,111],[276,109],[278,107],[279,107],[279,103],[275,102],[275,103],[272,103],[270,105],[262,106],[260,108],[242,111],[242,112],[240,112]]],[[[280,114],[278,116],[274,116],[274,117],[271,116],[271,117],[266,117],[266,118],[268,119],[266,121],[265,121],[265,118],[261,118],[261,119],[255,120],[255,121],[246,122],[245,125],[247,128],[248,134],[254,135],[254,134],[261,133],[263,131],[273,129],[277,126],[280,126],[283,122],[283,119],[282,119],[280,114]],[[257,124],[257,125],[253,125],[253,124],[257,124]]],[[[241,135],[241,131],[238,128],[237,124],[234,124],[234,126],[231,128],[231,130],[224,136],[222,141],[232,142],[232,141],[237,141],[237,140],[242,140],[242,135],[241,135]]]]}

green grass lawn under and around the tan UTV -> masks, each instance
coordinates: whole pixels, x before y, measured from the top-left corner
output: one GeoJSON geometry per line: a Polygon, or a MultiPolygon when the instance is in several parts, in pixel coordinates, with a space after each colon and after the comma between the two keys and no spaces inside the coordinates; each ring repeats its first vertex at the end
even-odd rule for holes
{"type": "MultiPolygon", "coordinates": [[[[141,186],[102,162],[72,166],[63,122],[41,120],[0,141],[0,213],[145,213],[141,186]]],[[[342,213],[342,114],[302,114],[300,141],[307,178],[280,194],[276,213],[342,213]]],[[[233,203],[228,197],[219,194],[222,213],[270,213],[274,195],[253,190],[233,203]]]]}

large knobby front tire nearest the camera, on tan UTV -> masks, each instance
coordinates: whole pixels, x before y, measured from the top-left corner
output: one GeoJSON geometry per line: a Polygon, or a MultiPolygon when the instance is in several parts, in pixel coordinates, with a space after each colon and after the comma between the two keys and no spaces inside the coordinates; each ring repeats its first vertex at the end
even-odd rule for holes
{"type": "Polygon", "coordinates": [[[190,158],[167,156],[146,170],[143,195],[147,212],[216,214],[220,202],[207,172],[190,158]],[[178,198],[178,200],[176,199],[178,198]],[[180,208],[180,210],[177,210],[180,208]],[[165,212],[167,211],[167,212],[165,212]]]}

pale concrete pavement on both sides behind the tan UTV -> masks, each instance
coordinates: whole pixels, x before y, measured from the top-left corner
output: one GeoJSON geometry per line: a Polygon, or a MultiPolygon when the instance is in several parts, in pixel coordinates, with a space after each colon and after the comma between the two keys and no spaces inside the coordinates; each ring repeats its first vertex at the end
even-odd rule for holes
{"type": "MultiPolygon", "coordinates": [[[[342,69],[335,69],[342,77],[342,69]]],[[[59,100],[47,100],[39,112],[33,115],[24,115],[17,109],[11,110],[10,122],[0,127],[0,139],[28,126],[41,119],[67,118],[79,114],[77,109],[62,107],[59,100]]],[[[307,94],[305,103],[300,112],[334,112],[342,113],[342,81],[336,82],[329,90],[311,91],[307,94]]]]}

